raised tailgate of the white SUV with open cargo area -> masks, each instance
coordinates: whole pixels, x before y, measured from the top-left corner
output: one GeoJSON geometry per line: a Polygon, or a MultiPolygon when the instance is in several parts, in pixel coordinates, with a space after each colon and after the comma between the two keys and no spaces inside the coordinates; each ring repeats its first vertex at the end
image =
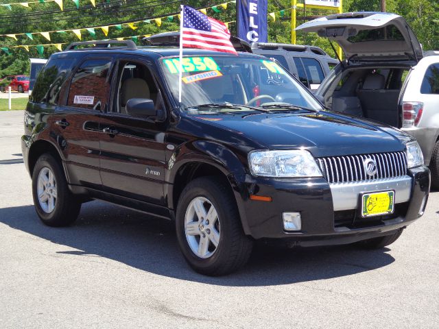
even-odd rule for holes
{"type": "Polygon", "coordinates": [[[403,17],[388,12],[349,12],[314,19],[296,27],[316,32],[342,47],[346,58],[359,61],[423,58],[422,47],[403,17]]]}

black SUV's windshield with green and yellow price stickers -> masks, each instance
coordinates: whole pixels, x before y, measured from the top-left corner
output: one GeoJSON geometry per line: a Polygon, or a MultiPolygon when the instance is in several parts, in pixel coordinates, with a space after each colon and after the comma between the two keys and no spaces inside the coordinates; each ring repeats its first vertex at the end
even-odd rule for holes
{"type": "MultiPolygon", "coordinates": [[[[165,58],[161,60],[161,66],[178,101],[180,62],[178,58],[165,58]]],[[[226,112],[244,110],[239,106],[259,107],[264,103],[281,103],[284,110],[288,110],[285,104],[321,109],[306,88],[272,60],[224,55],[184,57],[182,71],[183,110],[225,103],[238,105],[228,106],[226,112]]]]}

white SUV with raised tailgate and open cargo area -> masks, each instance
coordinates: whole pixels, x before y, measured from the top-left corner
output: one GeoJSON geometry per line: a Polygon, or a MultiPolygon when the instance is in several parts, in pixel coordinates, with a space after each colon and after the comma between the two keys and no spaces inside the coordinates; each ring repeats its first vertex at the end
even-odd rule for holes
{"type": "Polygon", "coordinates": [[[414,136],[439,188],[439,52],[423,53],[405,19],[385,12],[335,14],[297,29],[337,42],[346,56],[316,90],[324,105],[414,136]]]}

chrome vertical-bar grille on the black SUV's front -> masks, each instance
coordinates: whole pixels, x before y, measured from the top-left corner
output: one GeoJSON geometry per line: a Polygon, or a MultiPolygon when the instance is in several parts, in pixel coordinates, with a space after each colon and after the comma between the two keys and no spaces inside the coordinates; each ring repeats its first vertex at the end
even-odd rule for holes
{"type": "Polygon", "coordinates": [[[407,172],[405,152],[358,154],[355,156],[330,156],[317,158],[324,178],[329,183],[358,182],[403,176],[407,172]],[[377,173],[368,175],[364,168],[366,159],[375,160],[377,173]]]}

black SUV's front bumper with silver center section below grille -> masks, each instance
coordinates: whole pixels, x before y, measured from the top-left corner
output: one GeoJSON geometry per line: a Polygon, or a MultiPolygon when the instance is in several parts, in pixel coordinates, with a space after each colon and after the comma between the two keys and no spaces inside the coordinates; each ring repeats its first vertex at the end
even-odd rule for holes
{"type": "MultiPolygon", "coordinates": [[[[331,186],[324,178],[285,180],[255,178],[246,174],[235,174],[229,178],[246,234],[254,239],[290,239],[298,245],[307,246],[353,243],[405,228],[422,216],[430,185],[427,167],[410,169],[407,176],[398,182],[385,184],[385,188],[396,191],[394,214],[361,219],[357,215],[357,202],[354,206],[351,201],[348,202],[351,206],[346,209],[346,202],[340,201],[340,195],[331,191],[331,186]],[[408,184],[407,190],[399,189],[398,184],[408,184]],[[249,199],[250,195],[270,196],[272,202],[253,201],[249,199]],[[340,205],[345,206],[340,208],[340,205]],[[300,232],[283,230],[283,212],[300,212],[300,232]]],[[[364,188],[345,195],[348,199],[358,200],[359,192],[382,191],[382,184],[367,183],[364,188]],[[375,184],[381,185],[377,189],[375,184]]]]}

